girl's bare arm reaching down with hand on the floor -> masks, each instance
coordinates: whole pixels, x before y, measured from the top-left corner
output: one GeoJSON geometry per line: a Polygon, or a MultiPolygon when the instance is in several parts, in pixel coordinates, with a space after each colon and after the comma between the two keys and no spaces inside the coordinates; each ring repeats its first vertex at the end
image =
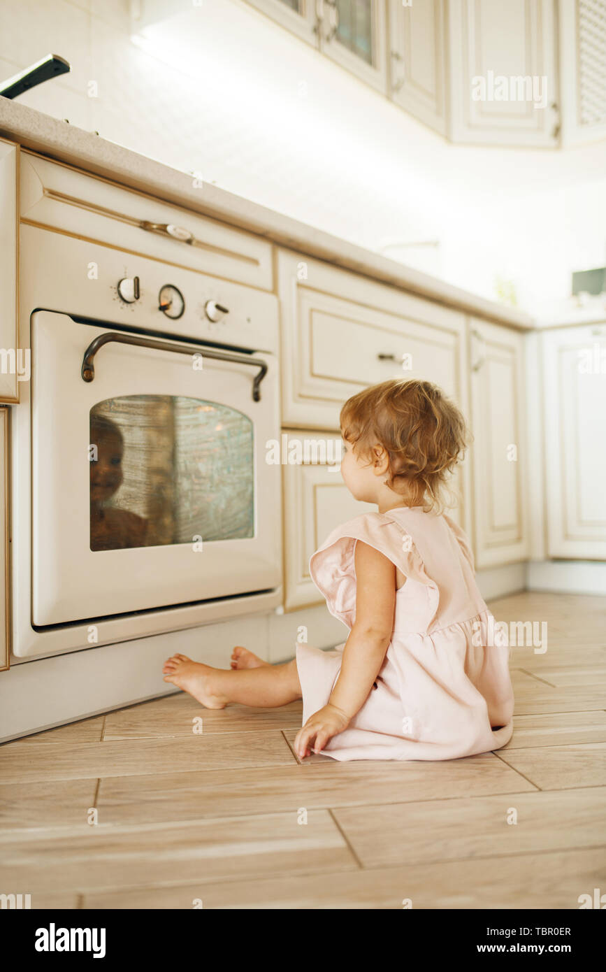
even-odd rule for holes
{"type": "Polygon", "coordinates": [[[395,566],[379,550],[358,540],[355,544],[355,623],[343,650],[343,662],[328,704],[315,712],[297,733],[299,758],[317,751],[347,728],[368,698],[381,671],[393,631],[395,566]]]}

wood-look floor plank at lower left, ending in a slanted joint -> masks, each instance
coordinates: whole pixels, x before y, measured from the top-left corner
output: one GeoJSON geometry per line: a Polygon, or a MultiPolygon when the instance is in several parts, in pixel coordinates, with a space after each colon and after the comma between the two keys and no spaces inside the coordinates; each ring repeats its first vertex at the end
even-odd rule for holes
{"type": "Polygon", "coordinates": [[[150,826],[83,825],[80,833],[0,835],[3,882],[30,893],[355,870],[328,811],[150,826]]]}

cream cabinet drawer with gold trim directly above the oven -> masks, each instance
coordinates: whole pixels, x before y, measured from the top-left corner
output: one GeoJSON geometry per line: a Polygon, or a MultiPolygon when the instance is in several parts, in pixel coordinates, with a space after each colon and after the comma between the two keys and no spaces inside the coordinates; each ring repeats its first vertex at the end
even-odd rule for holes
{"type": "Polygon", "coordinates": [[[266,240],[26,152],[21,153],[20,218],[173,266],[273,289],[266,240]],[[191,241],[143,224],[185,229],[191,241]]]}

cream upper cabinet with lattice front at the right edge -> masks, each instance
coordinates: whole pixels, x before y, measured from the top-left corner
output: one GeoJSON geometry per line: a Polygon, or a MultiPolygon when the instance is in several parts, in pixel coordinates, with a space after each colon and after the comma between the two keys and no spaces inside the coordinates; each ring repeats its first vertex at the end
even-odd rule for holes
{"type": "Polygon", "coordinates": [[[559,0],[564,146],[606,137],[606,3],[559,0]]]}

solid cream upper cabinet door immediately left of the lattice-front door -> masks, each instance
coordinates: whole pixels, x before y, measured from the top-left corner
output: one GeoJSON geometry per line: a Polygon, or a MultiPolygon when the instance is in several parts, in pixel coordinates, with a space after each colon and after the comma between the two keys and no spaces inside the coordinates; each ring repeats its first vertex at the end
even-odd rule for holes
{"type": "Polygon", "coordinates": [[[555,147],[554,0],[450,0],[455,142],[555,147]]]}

